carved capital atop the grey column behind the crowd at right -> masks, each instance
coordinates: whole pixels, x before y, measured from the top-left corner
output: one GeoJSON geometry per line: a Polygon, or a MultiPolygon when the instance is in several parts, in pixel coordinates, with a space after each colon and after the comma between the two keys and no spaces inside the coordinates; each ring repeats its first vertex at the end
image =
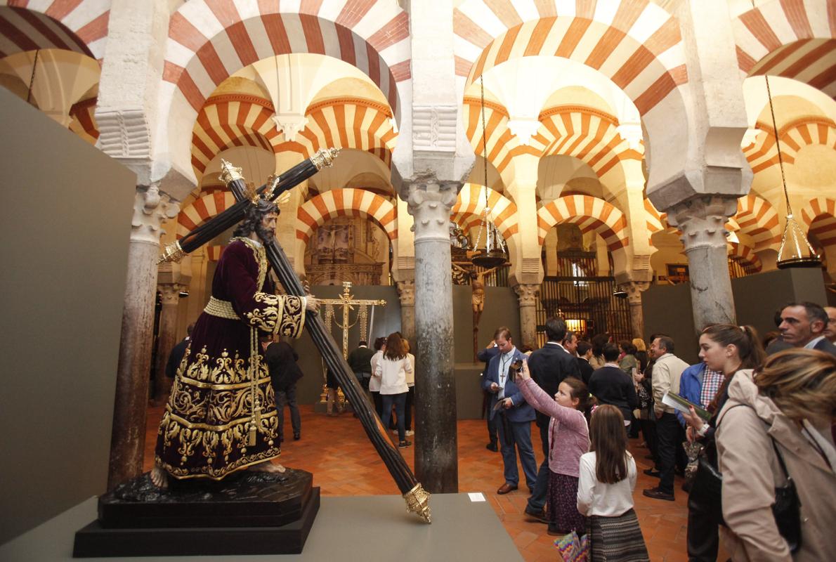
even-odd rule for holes
{"type": "Polygon", "coordinates": [[[692,197],[665,211],[670,225],[681,229],[686,253],[693,248],[722,248],[725,252],[725,224],[737,212],[737,197],[692,197]]]}

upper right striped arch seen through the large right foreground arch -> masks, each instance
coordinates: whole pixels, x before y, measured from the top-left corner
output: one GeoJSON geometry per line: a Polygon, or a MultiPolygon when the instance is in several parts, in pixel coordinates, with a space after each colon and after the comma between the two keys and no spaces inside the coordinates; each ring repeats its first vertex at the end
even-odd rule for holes
{"type": "Polygon", "coordinates": [[[619,121],[603,111],[580,106],[561,106],[540,114],[543,127],[532,137],[533,146],[542,147],[543,156],[563,154],[585,162],[599,178],[622,160],[641,161],[645,157],[644,144],[639,150],[618,132],[619,121]]]}

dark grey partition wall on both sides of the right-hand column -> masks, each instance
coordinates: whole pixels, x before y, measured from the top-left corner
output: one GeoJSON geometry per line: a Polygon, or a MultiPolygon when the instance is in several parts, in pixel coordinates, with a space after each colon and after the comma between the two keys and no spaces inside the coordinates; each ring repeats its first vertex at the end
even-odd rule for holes
{"type": "MultiPolygon", "coordinates": [[[[818,268],[776,269],[732,279],[732,294],[738,324],[751,324],[763,337],[776,330],[775,311],[791,301],[809,300],[827,304],[822,272],[818,268]]],[[[642,295],[645,339],[654,333],[670,335],[676,355],[689,363],[699,361],[696,329],[691,312],[691,289],[687,284],[657,285],[642,295]]]]}

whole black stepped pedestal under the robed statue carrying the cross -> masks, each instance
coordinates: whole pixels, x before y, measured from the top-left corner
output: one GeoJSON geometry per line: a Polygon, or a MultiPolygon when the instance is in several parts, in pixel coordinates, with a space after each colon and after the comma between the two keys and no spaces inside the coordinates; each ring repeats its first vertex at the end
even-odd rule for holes
{"type": "Polygon", "coordinates": [[[74,557],[298,554],[319,511],[313,475],[244,471],[158,490],[147,473],[99,498],[74,557]]]}

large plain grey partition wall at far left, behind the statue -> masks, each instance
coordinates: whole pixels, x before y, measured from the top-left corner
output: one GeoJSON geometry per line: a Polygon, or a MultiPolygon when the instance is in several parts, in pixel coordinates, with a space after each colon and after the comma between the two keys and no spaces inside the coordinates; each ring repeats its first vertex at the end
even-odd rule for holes
{"type": "Polygon", "coordinates": [[[0,543],[107,484],[135,175],[0,89],[0,543]]]}

